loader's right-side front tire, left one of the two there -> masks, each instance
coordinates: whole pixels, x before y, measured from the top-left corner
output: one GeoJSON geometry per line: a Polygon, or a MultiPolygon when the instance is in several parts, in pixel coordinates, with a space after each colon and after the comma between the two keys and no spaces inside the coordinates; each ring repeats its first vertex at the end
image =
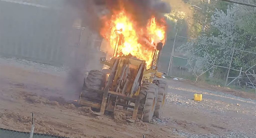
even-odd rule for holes
{"type": "Polygon", "coordinates": [[[156,102],[158,95],[158,87],[153,83],[143,83],[140,88],[140,98],[141,98],[141,106],[144,107],[145,110],[143,114],[142,121],[150,122],[152,120],[156,102]]]}

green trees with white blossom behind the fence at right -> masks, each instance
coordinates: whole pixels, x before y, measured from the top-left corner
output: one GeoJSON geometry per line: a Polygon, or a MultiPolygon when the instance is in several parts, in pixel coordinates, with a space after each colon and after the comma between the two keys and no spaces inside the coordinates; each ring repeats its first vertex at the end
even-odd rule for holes
{"type": "MultiPolygon", "coordinates": [[[[204,72],[215,65],[229,67],[234,50],[231,68],[242,71],[256,64],[256,8],[223,1],[201,1],[193,9],[191,37],[200,41],[188,41],[176,51],[193,63],[196,72],[204,72]],[[207,42],[207,43],[204,43],[207,42]],[[229,48],[227,48],[229,47],[229,48]],[[200,50],[205,48],[205,50],[200,50]],[[194,53],[200,50],[196,55],[194,53]],[[249,51],[249,52],[244,52],[249,51]],[[211,59],[211,60],[210,60],[211,59]]],[[[252,68],[256,71],[256,68],[252,68]]],[[[226,80],[227,69],[210,70],[215,78],[226,80]]],[[[237,76],[238,71],[230,71],[229,76],[237,76]]],[[[208,79],[205,79],[208,80],[208,79]]],[[[209,82],[212,82],[212,80],[209,82]]],[[[221,82],[218,79],[214,81],[221,82]]]]}

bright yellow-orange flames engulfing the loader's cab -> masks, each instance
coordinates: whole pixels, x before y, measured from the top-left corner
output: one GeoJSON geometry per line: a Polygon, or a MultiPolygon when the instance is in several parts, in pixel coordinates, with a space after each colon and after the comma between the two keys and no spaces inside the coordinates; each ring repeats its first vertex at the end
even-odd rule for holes
{"type": "Polygon", "coordinates": [[[124,10],[112,15],[110,21],[101,30],[101,35],[109,40],[111,48],[115,49],[117,43],[117,55],[122,56],[132,54],[140,60],[145,60],[147,68],[150,67],[153,60],[152,51],[155,48],[153,43],[157,44],[165,40],[165,26],[157,25],[155,17],[152,17],[147,26],[138,28],[136,22],[124,10]],[[118,45],[120,37],[123,36],[123,42],[118,45]],[[150,45],[139,42],[146,38],[150,45]]]}

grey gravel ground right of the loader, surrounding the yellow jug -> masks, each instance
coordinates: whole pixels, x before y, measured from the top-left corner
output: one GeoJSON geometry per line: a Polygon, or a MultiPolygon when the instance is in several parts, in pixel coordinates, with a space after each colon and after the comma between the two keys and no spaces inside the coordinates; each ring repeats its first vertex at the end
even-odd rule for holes
{"type": "Polygon", "coordinates": [[[170,116],[172,123],[179,125],[177,119],[186,121],[185,131],[174,129],[174,132],[191,138],[256,137],[256,100],[200,89],[192,85],[186,86],[183,82],[175,80],[168,82],[170,92],[167,105],[181,110],[181,113],[176,112],[170,116]],[[191,100],[195,93],[202,94],[202,101],[191,100]],[[195,129],[198,126],[199,128],[195,129]],[[194,134],[187,133],[191,131],[194,134]]]}

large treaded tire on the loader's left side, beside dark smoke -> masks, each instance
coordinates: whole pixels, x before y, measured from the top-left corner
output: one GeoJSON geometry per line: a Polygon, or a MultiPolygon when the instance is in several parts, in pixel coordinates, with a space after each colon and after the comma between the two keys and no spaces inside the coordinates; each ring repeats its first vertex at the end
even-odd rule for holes
{"type": "MultiPolygon", "coordinates": [[[[83,87],[93,88],[97,90],[102,90],[105,86],[106,74],[99,70],[91,70],[88,73],[86,79],[84,79],[83,87]]],[[[87,99],[90,97],[99,97],[97,93],[86,91],[85,93],[87,99]]]]}

